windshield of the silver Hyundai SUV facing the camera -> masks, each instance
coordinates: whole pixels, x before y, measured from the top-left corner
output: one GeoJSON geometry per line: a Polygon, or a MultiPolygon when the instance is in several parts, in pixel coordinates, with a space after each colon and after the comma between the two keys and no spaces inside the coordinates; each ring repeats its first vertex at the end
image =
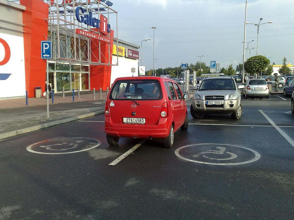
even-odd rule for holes
{"type": "Polygon", "coordinates": [[[235,90],[234,80],[228,79],[205,79],[198,90],[235,90]]]}

